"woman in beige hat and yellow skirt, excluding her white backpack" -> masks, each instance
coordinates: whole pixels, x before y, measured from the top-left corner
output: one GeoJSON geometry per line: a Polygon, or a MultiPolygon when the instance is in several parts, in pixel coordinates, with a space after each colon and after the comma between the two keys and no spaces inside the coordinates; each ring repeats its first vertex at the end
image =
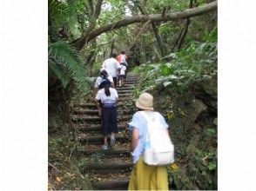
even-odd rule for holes
{"type": "Polygon", "coordinates": [[[148,117],[157,115],[159,122],[163,124],[166,130],[168,125],[164,116],[154,111],[153,96],[151,94],[143,93],[139,95],[135,105],[139,111],[132,116],[132,120],[129,123],[131,155],[135,165],[131,171],[128,190],[168,190],[166,166],[150,166],[143,161],[147,120],[142,111],[148,117]]]}

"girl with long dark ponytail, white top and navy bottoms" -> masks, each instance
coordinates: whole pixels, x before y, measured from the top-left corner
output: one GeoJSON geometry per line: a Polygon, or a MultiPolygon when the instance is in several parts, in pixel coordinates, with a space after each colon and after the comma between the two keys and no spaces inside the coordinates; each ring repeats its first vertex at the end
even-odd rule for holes
{"type": "Polygon", "coordinates": [[[114,133],[118,132],[118,91],[110,87],[109,82],[104,83],[104,88],[99,89],[94,98],[98,108],[98,115],[101,117],[102,133],[104,138],[104,150],[108,149],[107,135],[111,134],[111,145],[116,141],[114,133]],[[99,105],[101,102],[101,107],[99,105]]]}

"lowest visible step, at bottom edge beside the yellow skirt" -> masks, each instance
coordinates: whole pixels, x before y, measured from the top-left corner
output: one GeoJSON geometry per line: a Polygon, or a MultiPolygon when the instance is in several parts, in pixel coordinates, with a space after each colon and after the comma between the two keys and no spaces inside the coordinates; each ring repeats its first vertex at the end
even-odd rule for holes
{"type": "Polygon", "coordinates": [[[98,181],[92,183],[92,187],[97,190],[127,190],[129,179],[98,181]]]}

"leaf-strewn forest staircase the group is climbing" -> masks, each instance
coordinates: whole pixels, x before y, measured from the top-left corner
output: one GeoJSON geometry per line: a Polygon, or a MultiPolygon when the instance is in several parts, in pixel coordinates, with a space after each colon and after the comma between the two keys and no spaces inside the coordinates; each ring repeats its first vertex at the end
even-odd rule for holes
{"type": "MultiPolygon", "coordinates": [[[[79,132],[79,150],[81,161],[85,161],[81,173],[89,177],[92,187],[98,190],[127,190],[131,174],[132,162],[130,155],[131,133],[128,122],[135,112],[132,89],[138,77],[127,75],[123,87],[117,87],[118,102],[118,134],[116,144],[108,150],[102,150],[101,121],[94,102],[73,105],[71,120],[79,132]]],[[[108,140],[110,142],[110,140],[108,140]]]]}

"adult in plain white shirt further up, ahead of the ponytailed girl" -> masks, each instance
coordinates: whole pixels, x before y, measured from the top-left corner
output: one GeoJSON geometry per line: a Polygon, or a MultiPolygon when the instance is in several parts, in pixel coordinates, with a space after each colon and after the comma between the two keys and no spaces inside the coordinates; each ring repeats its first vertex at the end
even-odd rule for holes
{"type": "Polygon", "coordinates": [[[102,68],[107,71],[109,76],[113,78],[114,87],[117,87],[117,72],[120,67],[120,63],[115,59],[116,55],[111,54],[110,58],[106,59],[102,64],[102,68]]]}

